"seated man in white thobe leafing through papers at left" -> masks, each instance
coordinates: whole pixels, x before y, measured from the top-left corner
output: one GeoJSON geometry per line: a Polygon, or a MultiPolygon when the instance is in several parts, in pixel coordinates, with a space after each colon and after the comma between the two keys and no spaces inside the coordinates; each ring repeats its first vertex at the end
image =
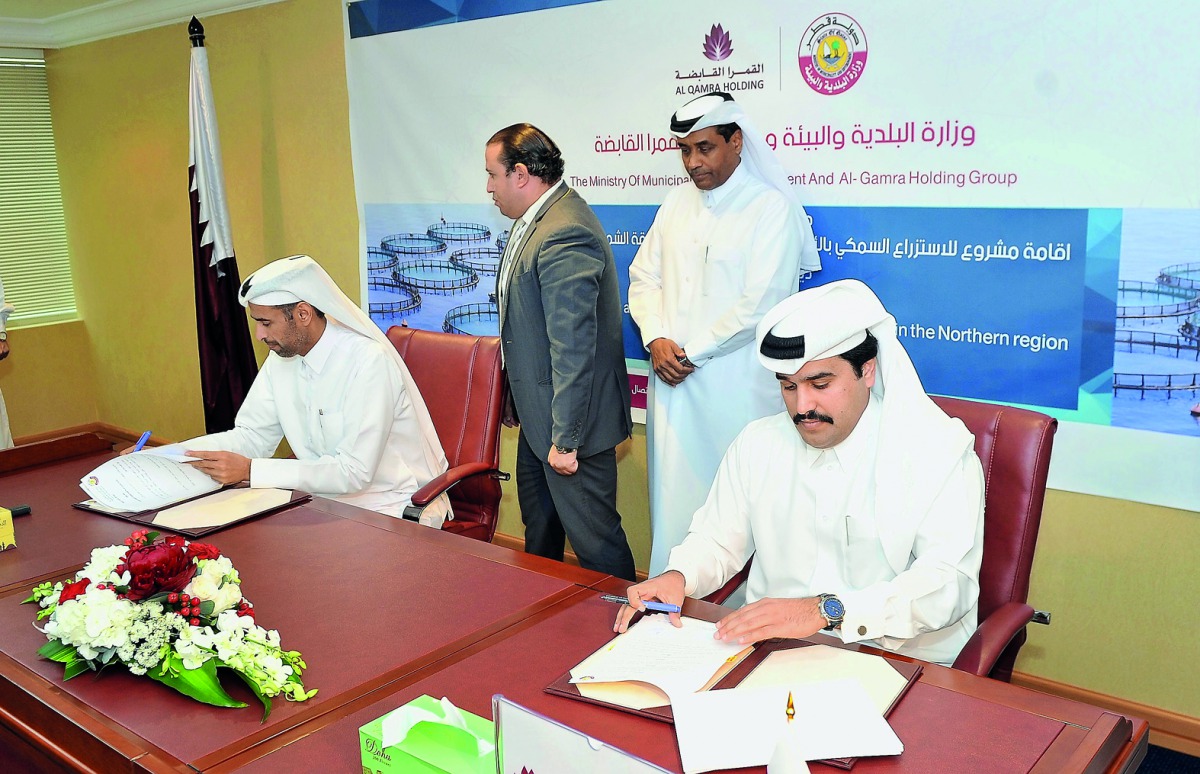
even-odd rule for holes
{"type": "MultiPolygon", "coordinates": [[[[304,490],[402,516],[418,488],[449,467],[433,420],[383,331],[308,256],[252,274],[238,300],[271,350],[234,428],[185,440],[221,484],[304,490]],[[287,438],[295,460],[275,460],[287,438]]],[[[440,527],[443,494],[421,523],[440,527]]]]}

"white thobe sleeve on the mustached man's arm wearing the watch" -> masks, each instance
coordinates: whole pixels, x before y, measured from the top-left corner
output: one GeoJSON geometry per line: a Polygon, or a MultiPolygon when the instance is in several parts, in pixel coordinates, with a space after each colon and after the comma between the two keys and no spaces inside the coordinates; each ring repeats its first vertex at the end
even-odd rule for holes
{"type": "MultiPolygon", "coordinates": [[[[890,581],[838,596],[846,606],[844,642],[907,640],[944,629],[976,606],[983,559],[983,469],[962,456],[922,521],[913,560],[890,581]]],[[[883,533],[887,524],[880,524],[883,533]]]]}

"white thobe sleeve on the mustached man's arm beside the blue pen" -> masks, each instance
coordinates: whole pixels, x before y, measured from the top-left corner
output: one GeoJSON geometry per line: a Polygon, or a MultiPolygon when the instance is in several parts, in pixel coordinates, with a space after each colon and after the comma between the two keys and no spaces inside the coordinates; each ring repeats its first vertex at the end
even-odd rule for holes
{"type": "Polygon", "coordinates": [[[754,476],[744,469],[749,461],[743,461],[740,442],[742,437],[734,439],[725,454],[708,499],[692,516],[688,536],[667,559],[667,570],[683,574],[688,596],[704,596],[721,588],[754,553],[752,498],[746,491],[754,476]]]}

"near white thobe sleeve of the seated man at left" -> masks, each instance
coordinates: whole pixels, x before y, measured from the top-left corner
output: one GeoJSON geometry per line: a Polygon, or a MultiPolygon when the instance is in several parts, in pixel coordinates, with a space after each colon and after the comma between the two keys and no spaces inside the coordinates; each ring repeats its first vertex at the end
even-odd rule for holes
{"type": "Polygon", "coordinates": [[[403,395],[398,368],[386,358],[365,358],[356,365],[346,380],[342,430],[332,452],[314,460],[252,460],[251,486],[349,494],[371,484],[388,448],[396,407],[403,400],[404,410],[413,409],[403,395]]]}

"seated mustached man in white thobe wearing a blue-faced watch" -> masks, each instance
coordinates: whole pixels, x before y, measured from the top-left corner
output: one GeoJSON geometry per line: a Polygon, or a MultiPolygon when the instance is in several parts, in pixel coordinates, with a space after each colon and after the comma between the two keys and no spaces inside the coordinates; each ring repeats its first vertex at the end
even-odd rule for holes
{"type": "Polygon", "coordinates": [[[950,664],[977,625],[974,438],[925,395],[895,318],[857,280],[785,300],[756,342],[786,410],[737,437],[667,571],[629,589],[614,629],[644,600],[712,593],[754,556],[749,604],[718,638],[826,630],[950,664]]]}

